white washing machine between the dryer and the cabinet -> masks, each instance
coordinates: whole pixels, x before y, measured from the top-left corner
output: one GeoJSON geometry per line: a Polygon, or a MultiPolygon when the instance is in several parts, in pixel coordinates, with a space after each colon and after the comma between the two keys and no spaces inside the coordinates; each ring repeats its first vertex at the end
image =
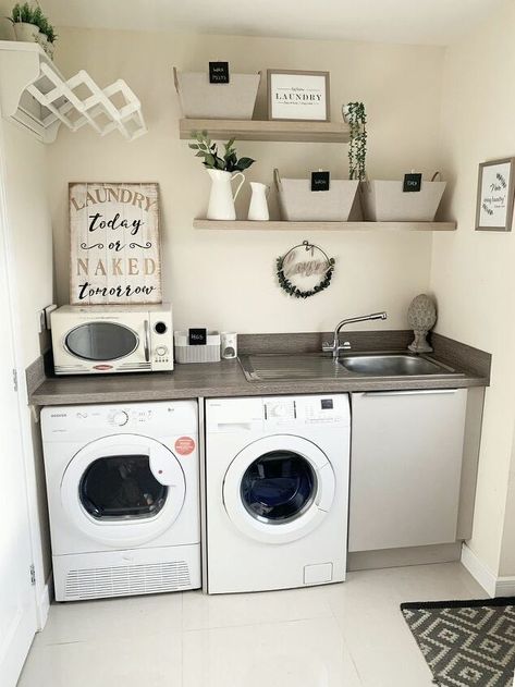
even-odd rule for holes
{"type": "Polygon", "coordinates": [[[343,581],[347,394],[206,401],[209,593],[343,581]]]}

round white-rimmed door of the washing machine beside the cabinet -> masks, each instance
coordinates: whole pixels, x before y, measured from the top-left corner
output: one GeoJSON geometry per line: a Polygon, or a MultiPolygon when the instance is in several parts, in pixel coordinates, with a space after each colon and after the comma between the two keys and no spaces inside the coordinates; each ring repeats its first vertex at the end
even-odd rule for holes
{"type": "Polygon", "coordinates": [[[320,525],[334,499],[328,457],[302,437],[258,439],[236,455],[223,481],[223,503],[248,537],[285,543],[320,525]]]}

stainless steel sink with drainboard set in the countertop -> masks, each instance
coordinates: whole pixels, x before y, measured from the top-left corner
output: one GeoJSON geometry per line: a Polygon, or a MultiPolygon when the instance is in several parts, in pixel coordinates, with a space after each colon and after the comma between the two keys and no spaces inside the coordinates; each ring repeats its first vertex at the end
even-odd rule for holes
{"type": "Polygon", "coordinates": [[[240,356],[240,363],[252,382],[461,375],[427,356],[404,352],[345,355],[338,364],[322,353],[244,355],[240,356]]]}

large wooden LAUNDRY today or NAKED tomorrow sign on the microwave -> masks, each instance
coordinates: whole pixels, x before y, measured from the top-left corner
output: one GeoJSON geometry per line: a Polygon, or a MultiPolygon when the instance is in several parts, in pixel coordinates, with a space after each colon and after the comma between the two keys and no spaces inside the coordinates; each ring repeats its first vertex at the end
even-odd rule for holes
{"type": "Polygon", "coordinates": [[[70,303],[161,303],[159,185],[70,186],[70,303]]]}

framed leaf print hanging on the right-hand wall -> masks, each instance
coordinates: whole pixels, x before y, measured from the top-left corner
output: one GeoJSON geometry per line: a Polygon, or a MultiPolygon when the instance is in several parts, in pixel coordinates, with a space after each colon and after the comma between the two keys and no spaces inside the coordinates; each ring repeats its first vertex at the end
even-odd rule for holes
{"type": "Polygon", "coordinates": [[[515,158],[479,164],[476,231],[511,232],[515,193],[515,158]]]}

